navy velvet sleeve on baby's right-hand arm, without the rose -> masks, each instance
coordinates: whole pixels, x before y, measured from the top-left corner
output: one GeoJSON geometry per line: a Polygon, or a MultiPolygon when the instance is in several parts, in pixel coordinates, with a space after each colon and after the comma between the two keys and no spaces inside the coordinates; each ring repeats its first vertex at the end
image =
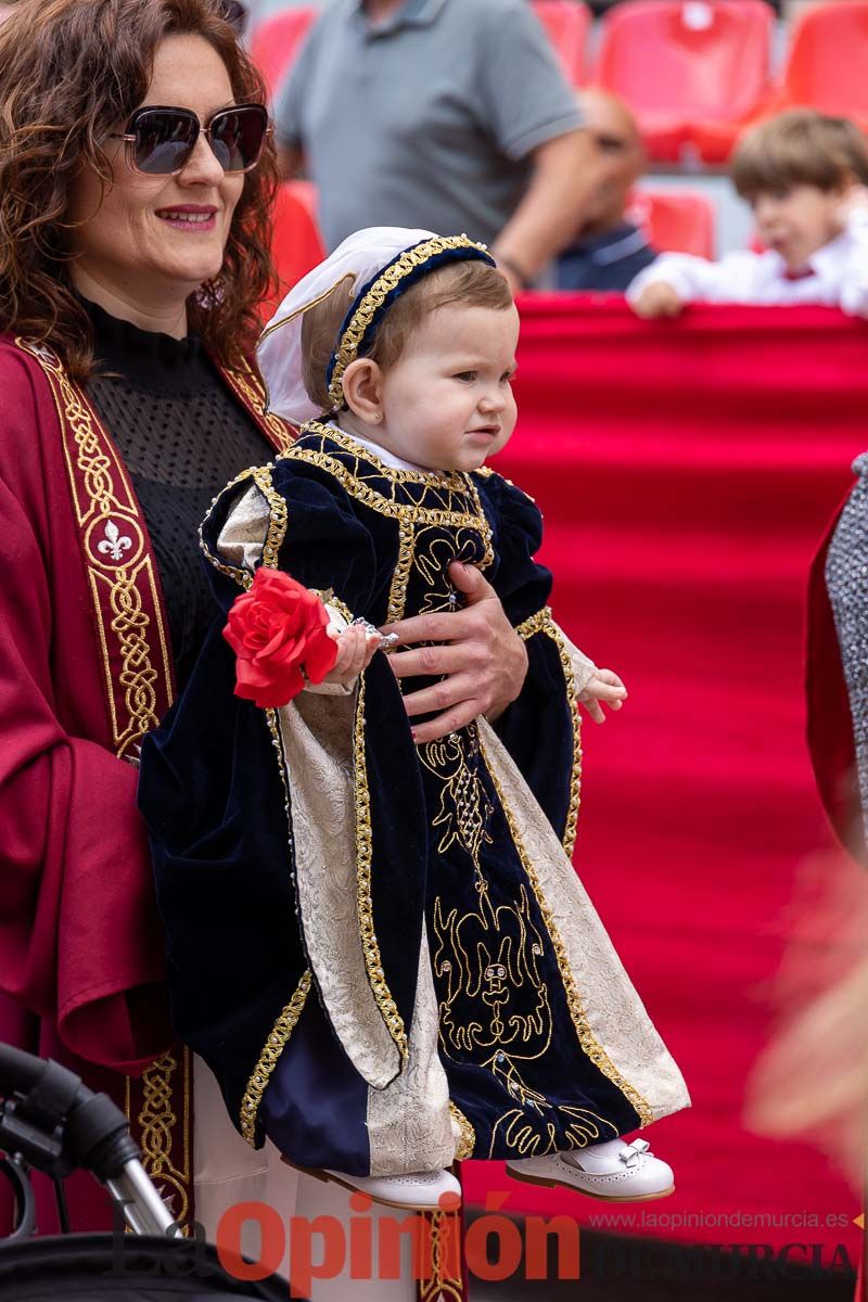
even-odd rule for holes
{"type": "Polygon", "coordinates": [[[552,574],[535,559],[543,542],[536,503],[497,474],[479,487],[497,556],[492,585],[528,656],[522,691],[495,729],[571,854],[582,758],[576,698],[595,665],[552,617],[552,574]]]}

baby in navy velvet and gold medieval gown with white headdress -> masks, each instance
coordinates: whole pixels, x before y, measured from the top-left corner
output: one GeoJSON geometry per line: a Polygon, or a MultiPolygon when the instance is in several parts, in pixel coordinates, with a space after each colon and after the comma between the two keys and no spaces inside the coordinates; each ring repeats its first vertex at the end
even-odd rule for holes
{"type": "MultiPolygon", "coordinates": [[[[540,513],[485,466],[518,329],[465,236],[362,230],[292,290],[259,359],[301,434],[204,522],[224,613],[142,756],[180,1036],[254,1147],[414,1210],[471,1156],[662,1198],[670,1167],[623,1137],[690,1101],[570,862],[576,706],[626,693],[552,618],[540,513]],[[454,611],[454,562],[488,577],[528,673],[498,719],[418,741],[377,629],[454,611]],[[259,706],[233,695],[245,656],[259,706]]],[[[426,648],[423,710],[448,651],[426,648]]]]}

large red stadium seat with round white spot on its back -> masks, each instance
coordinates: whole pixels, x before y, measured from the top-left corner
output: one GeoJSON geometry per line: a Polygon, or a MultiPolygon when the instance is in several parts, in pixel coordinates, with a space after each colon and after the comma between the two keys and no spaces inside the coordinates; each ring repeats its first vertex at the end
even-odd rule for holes
{"type": "Polygon", "coordinates": [[[772,30],[765,0],[635,0],[604,18],[592,79],[626,99],[653,159],[675,161],[694,124],[759,111],[772,30]]]}

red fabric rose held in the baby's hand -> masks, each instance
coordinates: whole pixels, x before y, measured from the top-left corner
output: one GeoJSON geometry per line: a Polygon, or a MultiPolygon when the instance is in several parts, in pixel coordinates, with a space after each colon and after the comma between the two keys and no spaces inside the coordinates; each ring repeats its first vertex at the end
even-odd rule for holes
{"type": "Polygon", "coordinates": [[[302,690],[302,669],[311,682],[321,682],[337,660],[327,628],[319,596],[289,574],[260,566],[223,630],[238,656],[236,695],[272,710],[302,690]]]}

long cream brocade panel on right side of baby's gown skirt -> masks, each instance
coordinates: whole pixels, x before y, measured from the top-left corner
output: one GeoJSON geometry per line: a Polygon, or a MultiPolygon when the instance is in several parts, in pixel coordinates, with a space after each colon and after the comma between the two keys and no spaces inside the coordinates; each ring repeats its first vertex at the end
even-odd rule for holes
{"type": "Polygon", "coordinates": [[[488,766],[521,831],[593,1039],[658,1121],[690,1107],[685,1078],[655,1029],[557,832],[495,730],[479,720],[488,766]]]}

